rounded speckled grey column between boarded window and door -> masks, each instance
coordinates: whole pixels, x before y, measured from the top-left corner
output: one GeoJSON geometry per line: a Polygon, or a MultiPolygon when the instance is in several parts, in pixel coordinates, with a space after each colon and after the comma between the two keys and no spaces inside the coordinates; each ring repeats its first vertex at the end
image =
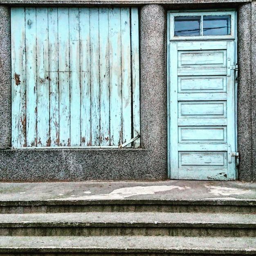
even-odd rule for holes
{"type": "Polygon", "coordinates": [[[157,4],[140,13],[141,147],[155,175],[167,177],[166,12],[157,4]]]}

